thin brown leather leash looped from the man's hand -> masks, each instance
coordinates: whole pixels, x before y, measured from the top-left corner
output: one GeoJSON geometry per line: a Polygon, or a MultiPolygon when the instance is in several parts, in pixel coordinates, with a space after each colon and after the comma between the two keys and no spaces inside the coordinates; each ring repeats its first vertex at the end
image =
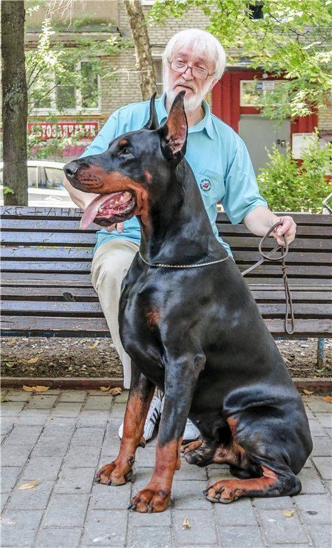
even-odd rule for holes
{"type": "Polygon", "coordinates": [[[258,245],[259,253],[261,254],[261,258],[255,262],[252,266],[249,266],[248,269],[246,269],[244,272],[242,272],[242,276],[245,276],[249,272],[252,272],[254,269],[257,269],[257,266],[260,266],[264,261],[279,261],[281,260],[281,270],[283,271],[283,285],[285,286],[285,301],[286,301],[286,310],[285,310],[285,332],[288,333],[288,335],[292,335],[295,330],[295,319],[294,319],[294,309],[293,309],[293,302],[292,302],[292,295],[290,293],[290,286],[288,284],[288,277],[287,277],[287,266],[285,264],[285,257],[288,254],[288,241],[286,240],[285,236],[283,235],[283,241],[285,242],[285,251],[281,251],[281,256],[274,256],[274,253],[277,253],[277,251],[281,250],[281,246],[277,245],[271,251],[268,251],[268,253],[264,253],[264,251],[261,250],[263,247],[263,244],[272,234],[274,229],[281,225],[282,223],[275,223],[268,232],[266,232],[266,235],[264,238],[261,238],[261,241],[258,245]],[[290,314],[290,318],[288,317],[290,314]],[[289,325],[290,324],[290,325],[289,325]]]}

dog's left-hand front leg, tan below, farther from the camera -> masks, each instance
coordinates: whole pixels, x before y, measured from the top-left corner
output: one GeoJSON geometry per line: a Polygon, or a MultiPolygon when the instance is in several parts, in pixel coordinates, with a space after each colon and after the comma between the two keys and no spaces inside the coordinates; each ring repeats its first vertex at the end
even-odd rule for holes
{"type": "Polygon", "coordinates": [[[131,386],[123,424],[120,451],[113,462],[104,464],[97,472],[95,481],[107,485],[122,485],[131,477],[136,449],[144,447],[144,423],[153,397],[155,385],[138,371],[131,362],[131,386]]]}

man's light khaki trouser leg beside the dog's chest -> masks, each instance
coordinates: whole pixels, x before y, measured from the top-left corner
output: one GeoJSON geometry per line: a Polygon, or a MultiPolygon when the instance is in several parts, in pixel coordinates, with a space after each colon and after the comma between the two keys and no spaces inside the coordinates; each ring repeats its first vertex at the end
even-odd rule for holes
{"type": "Polygon", "coordinates": [[[130,358],[125,352],[118,333],[118,303],[121,284],[140,246],[129,240],[117,238],[105,242],[94,253],[91,273],[92,284],[98,293],[99,302],[116,351],[123,364],[123,386],[129,388],[131,378],[130,358]]]}

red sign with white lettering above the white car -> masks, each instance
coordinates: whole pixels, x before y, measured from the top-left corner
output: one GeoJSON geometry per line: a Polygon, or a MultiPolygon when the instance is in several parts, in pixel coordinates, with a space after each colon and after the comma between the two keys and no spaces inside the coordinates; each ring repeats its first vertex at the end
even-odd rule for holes
{"type": "Polygon", "coordinates": [[[29,122],[27,129],[29,134],[36,134],[42,141],[71,136],[91,139],[99,132],[99,122],[29,122]]]}

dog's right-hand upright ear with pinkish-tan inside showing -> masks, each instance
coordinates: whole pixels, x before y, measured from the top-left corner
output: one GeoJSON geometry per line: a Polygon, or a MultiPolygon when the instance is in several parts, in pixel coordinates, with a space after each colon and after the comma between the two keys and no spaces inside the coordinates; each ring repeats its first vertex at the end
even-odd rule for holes
{"type": "Polygon", "coordinates": [[[168,119],[159,129],[162,136],[162,151],[169,157],[179,160],[186,154],[188,135],[187,116],[183,106],[185,91],[180,91],[170,108],[168,119]]]}

